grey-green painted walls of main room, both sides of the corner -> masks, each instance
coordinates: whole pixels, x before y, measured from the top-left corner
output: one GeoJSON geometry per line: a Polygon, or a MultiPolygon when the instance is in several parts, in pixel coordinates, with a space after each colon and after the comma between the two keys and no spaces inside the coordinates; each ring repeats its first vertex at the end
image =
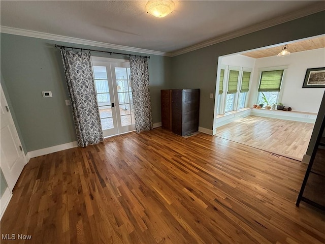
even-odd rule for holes
{"type": "MultiPolygon", "coordinates": [[[[279,24],[175,57],[148,59],[153,123],[161,121],[160,89],[200,88],[200,127],[213,129],[218,57],[325,33],[325,11],[279,24]]],[[[65,42],[1,34],[1,82],[11,101],[25,152],[76,140],[59,49],[54,44],[117,51],[65,42]],[[51,90],[53,98],[42,97],[51,90]]],[[[124,55],[95,53],[127,58],[124,55]]],[[[135,54],[135,53],[133,53],[135,54]]],[[[137,53],[141,54],[141,53],[137,53]]]]}

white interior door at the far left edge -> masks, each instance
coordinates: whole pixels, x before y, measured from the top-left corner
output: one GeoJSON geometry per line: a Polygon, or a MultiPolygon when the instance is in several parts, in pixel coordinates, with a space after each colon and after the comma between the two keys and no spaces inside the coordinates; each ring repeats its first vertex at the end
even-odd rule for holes
{"type": "Polygon", "coordinates": [[[18,133],[9,111],[2,87],[0,114],[1,169],[7,181],[8,188],[12,191],[24,165],[26,164],[26,158],[22,151],[18,133]]]}

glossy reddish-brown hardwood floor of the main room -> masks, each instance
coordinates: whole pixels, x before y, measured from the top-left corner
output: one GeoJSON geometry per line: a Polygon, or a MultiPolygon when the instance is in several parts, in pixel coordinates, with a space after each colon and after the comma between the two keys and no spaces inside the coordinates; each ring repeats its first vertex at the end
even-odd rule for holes
{"type": "Polygon", "coordinates": [[[33,158],[1,243],[324,243],[325,214],[295,206],[306,165],[200,133],[154,129],[33,158]]]}

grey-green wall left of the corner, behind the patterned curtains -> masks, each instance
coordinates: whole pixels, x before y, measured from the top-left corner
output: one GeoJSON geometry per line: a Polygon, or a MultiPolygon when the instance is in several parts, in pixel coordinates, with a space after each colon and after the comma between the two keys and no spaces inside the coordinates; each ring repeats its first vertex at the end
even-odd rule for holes
{"type": "MultiPolygon", "coordinates": [[[[32,151],[76,140],[66,80],[59,49],[54,44],[121,52],[1,33],[1,81],[7,87],[25,151],[32,151]],[[42,91],[52,91],[43,98],[42,91]]],[[[141,53],[132,53],[141,54],[141,53]]],[[[128,58],[125,55],[93,53],[96,56],[128,58]]],[[[148,59],[153,123],[160,118],[160,89],[168,88],[171,58],[150,55],[148,59]]],[[[8,95],[8,96],[7,96],[8,95]]]]}

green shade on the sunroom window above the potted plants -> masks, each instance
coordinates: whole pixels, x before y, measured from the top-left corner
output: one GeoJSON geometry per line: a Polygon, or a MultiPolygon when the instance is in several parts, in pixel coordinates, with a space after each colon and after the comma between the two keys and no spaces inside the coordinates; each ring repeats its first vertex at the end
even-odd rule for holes
{"type": "Polygon", "coordinates": [[[284,70],[263,71],[258,92],[280,92],[284,70]]]}

